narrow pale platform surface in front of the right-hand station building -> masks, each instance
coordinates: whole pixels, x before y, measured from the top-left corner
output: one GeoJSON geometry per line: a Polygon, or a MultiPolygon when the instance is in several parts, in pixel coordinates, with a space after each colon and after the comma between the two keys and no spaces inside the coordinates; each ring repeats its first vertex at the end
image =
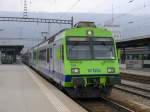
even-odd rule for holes
{"type": "Polygon", "coordinates": [[[121,73],[150,77],[150,70],[149,69],[139,69],[139,70],[121,69],[121,73]]]}

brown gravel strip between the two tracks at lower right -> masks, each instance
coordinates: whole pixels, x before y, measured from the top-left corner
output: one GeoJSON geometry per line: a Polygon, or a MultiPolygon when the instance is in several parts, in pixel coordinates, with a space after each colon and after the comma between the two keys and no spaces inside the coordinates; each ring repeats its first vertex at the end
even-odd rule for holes
{"type": "Polygon", "coordinates": [[[150,100],[146,98],[123,92],[117,89],[112,90],[110,98],[119,103],[122,103],[125,106],[128,106],[131,109],[133,109],[133,107],[134,109],[137,108],[135,109],[138,110],[136,112],[150,112],[150,100]]]}

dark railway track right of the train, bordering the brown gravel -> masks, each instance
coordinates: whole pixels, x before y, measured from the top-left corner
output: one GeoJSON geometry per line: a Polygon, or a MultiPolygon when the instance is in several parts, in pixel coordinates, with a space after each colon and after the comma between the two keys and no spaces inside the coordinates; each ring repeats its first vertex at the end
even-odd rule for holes
{"type": "Polygon", "coordinates": [[[116,85],[116,86],[114,86],[114,88],[137,95],[137,96],[141,96],[143,98],[150,100],[150,90],[143,89],[140,87],[135,87],[135,86],[128,85],[128,84],[116,85]]]}

